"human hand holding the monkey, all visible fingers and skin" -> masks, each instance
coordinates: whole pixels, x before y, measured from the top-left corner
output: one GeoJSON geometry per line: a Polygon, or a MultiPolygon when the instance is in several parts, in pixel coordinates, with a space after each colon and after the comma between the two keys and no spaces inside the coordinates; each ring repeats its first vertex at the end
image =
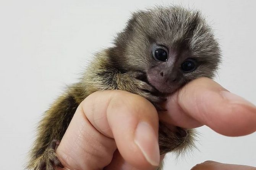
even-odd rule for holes
{"type": "MultiPolygon", "coordinates": [[[[256,106],[208,78],[188,83],[168,97],[165,108],[158,114],[148,100],[125,91],[95,92],[78,106],[56,150],[58,159],[66,170],[155,170],[164,157],[159,155],[159,119],[170,128],[206,125],[226,136],[256,131],[256,106]]],[[[193,170],[227,165],[204,162],[193,170]]]]}

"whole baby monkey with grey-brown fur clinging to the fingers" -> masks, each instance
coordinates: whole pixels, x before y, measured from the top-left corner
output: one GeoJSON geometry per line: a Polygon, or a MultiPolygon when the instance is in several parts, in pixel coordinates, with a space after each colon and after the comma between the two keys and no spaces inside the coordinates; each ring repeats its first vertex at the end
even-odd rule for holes
{"type": "MultiPolygon", "coordinates": [[[[193,79],[213,78],[219,63],[219,44],[199,11],[157,6],[133,13],[113,46],[96,54],[79,83],[68,87],[45,112],[27,169],[63,167],[55,148],[79,103],[93,92],[128,91],[163,111],[167,95],[193,79]]],[[[159,122],[160,154],[193,145],[193,130],[175,128],[159,122]]]]}

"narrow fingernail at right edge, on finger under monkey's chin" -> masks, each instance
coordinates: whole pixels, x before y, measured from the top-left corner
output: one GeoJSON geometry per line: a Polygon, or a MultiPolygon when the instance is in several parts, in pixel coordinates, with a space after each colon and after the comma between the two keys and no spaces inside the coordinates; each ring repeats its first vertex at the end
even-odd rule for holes
{"type": "Polygon", "coordinates": [[[224,99],[229,100],[230,103],[243,104],[243,105],[255,107],[255,105],[253,103],[243,99],[243,97],[240,97],[240,96],[230,93],[228,91],[220,91],[220,94],[222,95],[222,97],[224,97],[224,99]]]}

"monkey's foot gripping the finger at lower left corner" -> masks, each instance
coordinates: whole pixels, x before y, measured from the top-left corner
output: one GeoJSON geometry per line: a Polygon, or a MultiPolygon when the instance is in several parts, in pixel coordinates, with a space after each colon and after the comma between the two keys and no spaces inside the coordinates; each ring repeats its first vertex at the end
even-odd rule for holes
{"type": "Polygon", "coordinates": [[[36,159],[36,168],[34,170],[55,170],[55,167],[64,168],[55,153],[59,144],[60,141],[52,140],[44,153],[36,159]]]}

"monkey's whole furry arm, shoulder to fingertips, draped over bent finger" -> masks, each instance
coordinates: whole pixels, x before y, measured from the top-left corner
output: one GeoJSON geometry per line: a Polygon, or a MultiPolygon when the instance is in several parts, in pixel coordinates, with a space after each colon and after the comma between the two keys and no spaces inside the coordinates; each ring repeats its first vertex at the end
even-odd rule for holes
{"type": "MultiPolygon", "coordinates": [[[[147,83],[145,74],[140,71],[127,71],[122,73],[118,70],[102,69],[97,72],[97,75],[90,74],[86,82],[94,82],[99,90],[122,90],[138,94],[149,100],[158,111],[165,110],[160,103],[166,101],[164,95],[161,95],[154,87],[147,83]]],[[[89,87],[87,85],[87,87],[89,87]]],[[[94,86],[96,87],[96,86],[94,86]]]]}

